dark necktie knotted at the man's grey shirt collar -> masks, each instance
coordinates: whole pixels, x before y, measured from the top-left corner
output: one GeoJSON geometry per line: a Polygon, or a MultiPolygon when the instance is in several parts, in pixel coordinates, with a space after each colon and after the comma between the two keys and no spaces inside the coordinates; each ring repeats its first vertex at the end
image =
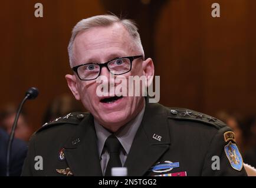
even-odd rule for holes
{"type": "Polygon", "coordinates": [[[105,176],[111,176],[112,167],[122,167],[119,156],[122,145],[116,136],[110,135],[105,142],[105,146],[107,147],[107,151],[109,152],[110,156],[109,162],[107,163],[105,176]]]}

